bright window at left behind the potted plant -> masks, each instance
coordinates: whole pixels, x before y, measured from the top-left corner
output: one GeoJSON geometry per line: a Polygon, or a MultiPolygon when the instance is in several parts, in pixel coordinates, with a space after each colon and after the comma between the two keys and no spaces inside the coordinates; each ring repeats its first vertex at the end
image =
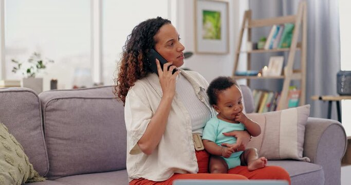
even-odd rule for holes
{"type": "Polygon", "coordinates": [[[11,72],[11,59],[23,62],[33,52],[54,60],[39,76],[44,90],[52,78],[60,88],[72,88],[77,71],[89,73],[90,1],[5,1],[6,79],[21,79],[22,74],[11,72]]]}

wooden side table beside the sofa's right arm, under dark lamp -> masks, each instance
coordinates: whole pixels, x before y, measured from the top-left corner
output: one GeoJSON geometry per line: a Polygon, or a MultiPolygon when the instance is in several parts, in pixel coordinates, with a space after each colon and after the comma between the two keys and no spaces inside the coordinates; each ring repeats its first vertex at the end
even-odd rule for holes
{"type": "Polygon", "coordinates": [[[351,100],[351,96],[332,96],[332,95],[327,95],[327,96],[312,96],[312,100],[322,100],[322,101],[328,101],[328,119],[331,117],[331,102],[335,101],[337,104],[337,113],[338,113],[338,121],[341,123],[341,111],[340,111],[340,101],[341,100],[351,100]]]}

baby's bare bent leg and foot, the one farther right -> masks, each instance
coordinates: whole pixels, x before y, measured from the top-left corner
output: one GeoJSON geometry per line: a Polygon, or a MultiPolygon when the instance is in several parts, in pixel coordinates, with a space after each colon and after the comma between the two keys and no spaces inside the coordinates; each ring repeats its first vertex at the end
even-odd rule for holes
{"type": "Polygon", "coordinates": [[[263,168],[267,165],[267,158],[258,158],[257,150],[254,148],[247,149],[241,156],[242,165],[247,165],[249,171],[263,168]]]}

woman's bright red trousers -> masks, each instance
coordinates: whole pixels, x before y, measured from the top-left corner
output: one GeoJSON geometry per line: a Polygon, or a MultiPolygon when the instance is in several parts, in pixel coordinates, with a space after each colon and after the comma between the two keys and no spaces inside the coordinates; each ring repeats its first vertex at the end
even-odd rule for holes
{"type": "Polygon", "coordinates": [[[262,169],[257,169],[254,171],[248,171],[247,167],[239,166],[228,171],[228,174],[209,174],[209,153],[205,150],[196,151],[196,158],[199,167],[199,172],[197,174],[174,174],[172,177],[165,181],[152,181],[147,179],[134,179],[129,184],[130,185],[172,185],[173,181],[176,179],[279,179],[287,180],[290,184],[290,176],[286,170],[281,167],[268,166],[262,169]]]}

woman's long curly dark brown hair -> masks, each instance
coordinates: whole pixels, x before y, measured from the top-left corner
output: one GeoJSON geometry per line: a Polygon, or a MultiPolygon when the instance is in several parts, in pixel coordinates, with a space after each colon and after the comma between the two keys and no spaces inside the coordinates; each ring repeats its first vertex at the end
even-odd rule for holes
{"type": "Polygon", "coordinates": [[[162,17],[150,18],[134,27],[132,33],[127,36],[127,41],[123,46],[119,73],[115,81],[114,94],[118,100],[125,104],[125,97],[134,83],[146,77],[153,71],[148,67],[147,56],[149,50],[155,47],[154,36],[159,29],[171,21],[162,17]]]}

